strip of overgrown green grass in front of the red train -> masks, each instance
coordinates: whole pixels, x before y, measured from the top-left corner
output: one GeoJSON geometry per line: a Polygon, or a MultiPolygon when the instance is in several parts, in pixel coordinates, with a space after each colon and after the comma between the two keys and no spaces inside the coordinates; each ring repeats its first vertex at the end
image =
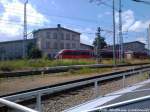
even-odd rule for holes
{"type": "MultiPolygon", "coordinates": [[[[102,60],[102,64],[112,64],[111,59],[102,60]]],[[[126,64],[150,63],[150,59],[125,61],[126,64]]],[[[12,61],[0,61],[0,71],[27,70],[39,67],[55,67],[55,66],[70,66],[70,65],[87,65],[96,64],[94,59],[64,59],[64,60],[49,60],[48,58],[40,59],[24,59],[12,61]]],[[[83,69],[84,71],[84,69],[83,69]]]]}

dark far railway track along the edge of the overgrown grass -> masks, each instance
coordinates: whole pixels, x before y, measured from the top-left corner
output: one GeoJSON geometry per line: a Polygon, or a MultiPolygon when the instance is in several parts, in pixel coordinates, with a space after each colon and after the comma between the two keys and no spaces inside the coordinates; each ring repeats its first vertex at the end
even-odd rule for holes
{"type": "MultiPolygon", "coordinates": [[[[118,64],[118,67],[124,66],[142,66],[148,65],[149,63],[142,64],[118,64]]],[[[57,67],[44,67],[33,70],[25,70],[25,71],[12,71],[12,72],[0,72],[0,78],[7,77],[21,77],[21,76],[30,76],[30,75],[41,75],[41,74],[50,74],[50,73],[59,73],[59,72],[67,72],[70,69],[79,70],[81,68],[111,68],[113,65],[110,64],[92,64],[92,65],[72,65],[72,66],[57,66],[57,67]]]]}

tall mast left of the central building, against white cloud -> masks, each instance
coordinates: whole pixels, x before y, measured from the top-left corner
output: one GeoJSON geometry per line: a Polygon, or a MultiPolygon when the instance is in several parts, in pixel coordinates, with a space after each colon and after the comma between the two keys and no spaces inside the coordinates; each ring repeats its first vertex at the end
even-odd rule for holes
{"type": "Polygon", "coordinates": [[[24,3],[23,58],[27,56],[27,3],[28,0],[24,3]]]}

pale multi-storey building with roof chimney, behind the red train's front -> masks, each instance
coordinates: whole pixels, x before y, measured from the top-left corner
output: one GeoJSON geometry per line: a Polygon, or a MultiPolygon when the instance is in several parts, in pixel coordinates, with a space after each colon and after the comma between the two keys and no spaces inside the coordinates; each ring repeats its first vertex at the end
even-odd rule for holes
{"type": "Polygon", "coordinates": [[[57,28],[34,31],[36,46],[43,55],[53,58],[62,49],[80,49],[80,33],[66,29],[58,24],[57,28]]]}

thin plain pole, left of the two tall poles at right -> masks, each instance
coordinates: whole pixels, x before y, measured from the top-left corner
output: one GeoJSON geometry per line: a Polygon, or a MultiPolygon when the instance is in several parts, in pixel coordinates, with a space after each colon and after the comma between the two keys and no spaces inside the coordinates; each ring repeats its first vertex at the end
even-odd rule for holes
{"type": "Polygon", "coordinates": [[[116,24],[115,24],[115,0],[113,2],[113,65],[116,66],[116,24]]]}

